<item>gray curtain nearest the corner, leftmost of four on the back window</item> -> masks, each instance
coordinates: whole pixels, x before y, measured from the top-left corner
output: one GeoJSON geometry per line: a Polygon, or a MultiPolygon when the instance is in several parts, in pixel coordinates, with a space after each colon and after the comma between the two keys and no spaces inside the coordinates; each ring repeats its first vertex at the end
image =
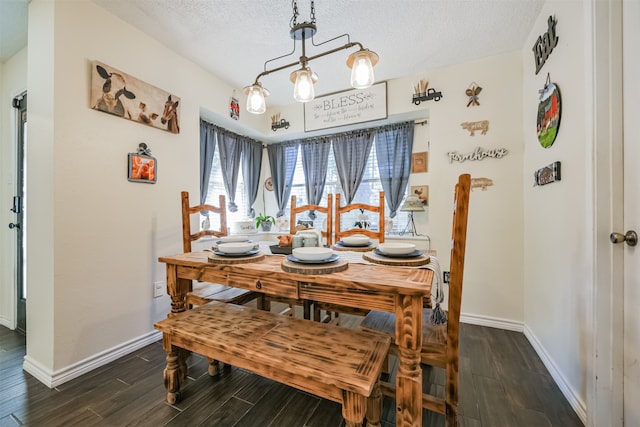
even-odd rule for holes
{"type": "Polygon", "coordinates": [[[284,209],[291,195],[291,184],[296,170],[299,145],[298,141],[267,145],[271,178],[273,179],[273,192],[278,204],[276,217],[284,215],[284,209]]]}

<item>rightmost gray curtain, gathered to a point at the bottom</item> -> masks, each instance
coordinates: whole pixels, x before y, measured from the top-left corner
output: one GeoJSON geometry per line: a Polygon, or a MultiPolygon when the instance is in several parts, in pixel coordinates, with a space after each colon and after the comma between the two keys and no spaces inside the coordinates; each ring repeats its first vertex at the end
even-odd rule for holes
{"type": "Polygon", "coordinates": [[[376,132],[378,172],[391,218],[396,216],[409,183],[414,126],[414,122],[405,122],[376,132]]]}

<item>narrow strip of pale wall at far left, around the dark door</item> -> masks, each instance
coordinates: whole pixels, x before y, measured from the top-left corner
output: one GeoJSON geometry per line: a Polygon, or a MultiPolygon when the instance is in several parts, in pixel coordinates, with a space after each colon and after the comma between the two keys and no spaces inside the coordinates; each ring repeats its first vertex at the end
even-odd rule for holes
{"type": "Polygon", "coordinates": [[[14,328],[16,324],[15,231],[6,224],[15,221],[9,211],[15,195],[16,110],[14,97],[27,88],[27,49],[0,64],[0,325],[14,328]]]}

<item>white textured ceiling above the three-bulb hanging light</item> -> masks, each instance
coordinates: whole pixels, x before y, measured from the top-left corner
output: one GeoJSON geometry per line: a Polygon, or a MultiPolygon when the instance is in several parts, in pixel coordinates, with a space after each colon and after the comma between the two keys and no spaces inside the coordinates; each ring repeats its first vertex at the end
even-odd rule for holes
{"type": "MultiPolygon", "coordinates": [[[[266,60],[293,50],[289,36],[290,0],[92,1],[237,89],[253,83],[266,60]]],[[[375,73],[376,81],[382,81],[520,50],[525,47],[524,40],[544,2],[318,0],[315,2],[318,31],[314,40],[317,44],[349,33],[351,41],[358,41],[380,55],[375,73]]],[[[26,5],[26,0],[0,0],[2,33],[5,3],[26,5]]],[[[309,21],[310,1],[299,0],[298,9],[298,22],[309,21]]],[[[319,48],[307,43],[307,56],[341,46],[346,40],[340,38],[319,48]]],[[[271,63],[270,68],[297,61],[299,43],[297,49],[295,55],[271,63]]],[[[319,75],[317,95],[349,88],[345,60],[354,50],[310,63],[319,75]]],[[[293,85],[289,81],[289,72],[293,70],[261,79],[272,93],[268,105],[293,102],[293,85]]]]}

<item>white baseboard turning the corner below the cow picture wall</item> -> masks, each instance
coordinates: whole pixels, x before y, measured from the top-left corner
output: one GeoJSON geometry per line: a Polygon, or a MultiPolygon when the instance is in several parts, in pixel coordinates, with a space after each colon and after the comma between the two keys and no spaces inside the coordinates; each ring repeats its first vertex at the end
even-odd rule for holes
{"type": "Polygon", "coordinates": [[[24,358],[22,368],[47,387],[54,388],[152,344],[161,338],[162,333],[160,331],[153,331],[55,372],[51,372],[51,370],[45,368],[27,355],[24,358]]]}

